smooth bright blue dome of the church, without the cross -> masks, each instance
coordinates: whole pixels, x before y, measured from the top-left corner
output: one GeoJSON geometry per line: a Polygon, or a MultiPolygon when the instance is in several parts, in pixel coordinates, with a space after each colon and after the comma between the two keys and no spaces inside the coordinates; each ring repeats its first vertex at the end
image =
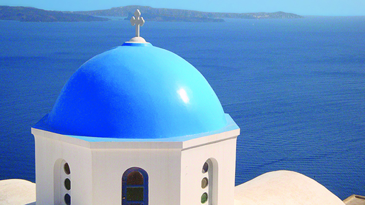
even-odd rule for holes
{"type": "Polygon", "coordinates": [[[191,64],[150,43],[124,43],[77,69],[34,127],[148,139],[212,132],[226,124],[217,95],[191,64]]]}

